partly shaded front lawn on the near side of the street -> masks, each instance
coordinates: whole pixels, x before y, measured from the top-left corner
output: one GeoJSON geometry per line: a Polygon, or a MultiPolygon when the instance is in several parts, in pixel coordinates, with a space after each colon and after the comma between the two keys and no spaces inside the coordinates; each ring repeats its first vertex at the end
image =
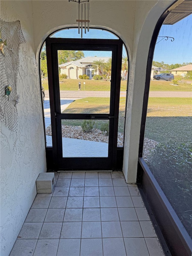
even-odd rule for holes
{"type": "MultiPolygon", "coordinates": [[[[146,137],[158,142],[191,141],[191,98],[149,98],[146,137]]],[[[124,130],[125,97],[120,98],[119,132],[124,130]]],[[[73,101],[63,113],[109,113],[109,98],[83,98],[73,101]]],[[[81,120],[65,120],[66,125],[81,125],[81,120]]],[[[105,120],[98,120],[98,126],[105,120]]],[[[98,128],[99,128],[98,127],[98,128]]]]}

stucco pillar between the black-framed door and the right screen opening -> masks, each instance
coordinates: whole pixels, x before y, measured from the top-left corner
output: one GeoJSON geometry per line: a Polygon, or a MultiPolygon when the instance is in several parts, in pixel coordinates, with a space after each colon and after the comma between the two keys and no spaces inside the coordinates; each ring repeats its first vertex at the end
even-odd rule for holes
{"type": "Polygon", "coordinates": [[[136,182],[137,178],[140,126],[150,42],[158,19],[175,1],[135,2],[134,47],[129,70],[123,161],[123,172],[128,183],[136,182]]]}

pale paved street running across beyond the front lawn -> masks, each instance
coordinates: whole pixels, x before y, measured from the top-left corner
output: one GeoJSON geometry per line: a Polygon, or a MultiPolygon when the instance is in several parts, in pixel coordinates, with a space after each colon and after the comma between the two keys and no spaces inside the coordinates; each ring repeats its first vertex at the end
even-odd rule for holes
{"type": "MultiPolygon", "coordinates": [[[[125,97],[126,91],[120,93],[120,97],[125,97]]],[[[49,97],[48,90],[45,91],[45,97],[49,97]]],[[[110,97],[110,91],[60,91],[61,98],[86,98],[86,97],[110,97]]],[[[191,98],[191,92],[176,92],[176,91],[152,91],[149,92],[149,97],[179,97],[191,98]]]]}

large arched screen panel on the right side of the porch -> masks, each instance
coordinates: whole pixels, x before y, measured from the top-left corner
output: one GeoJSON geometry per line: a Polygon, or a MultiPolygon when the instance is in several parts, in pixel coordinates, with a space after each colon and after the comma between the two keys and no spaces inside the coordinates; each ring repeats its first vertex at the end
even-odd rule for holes
{"type": "Polygon", "coordinates": [[[164,35],[174,41],[155,47],[143,158],[192,238],[192,15],[164,35]]]}

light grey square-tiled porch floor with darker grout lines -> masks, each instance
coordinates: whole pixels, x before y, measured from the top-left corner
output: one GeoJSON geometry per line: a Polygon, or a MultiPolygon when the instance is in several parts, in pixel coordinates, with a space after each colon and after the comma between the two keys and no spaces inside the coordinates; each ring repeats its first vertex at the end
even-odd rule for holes
{"type": "Polygon", "coordinates": [[[122,172],[55,173],[37,194],[10,256],[164,255],[137,185],[122,172]]]}

